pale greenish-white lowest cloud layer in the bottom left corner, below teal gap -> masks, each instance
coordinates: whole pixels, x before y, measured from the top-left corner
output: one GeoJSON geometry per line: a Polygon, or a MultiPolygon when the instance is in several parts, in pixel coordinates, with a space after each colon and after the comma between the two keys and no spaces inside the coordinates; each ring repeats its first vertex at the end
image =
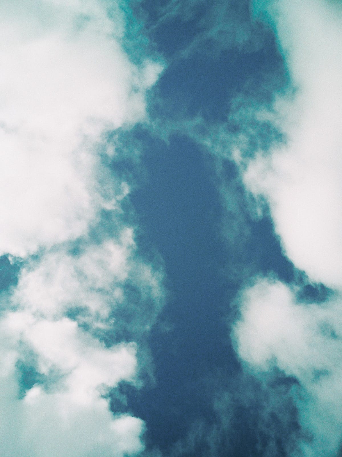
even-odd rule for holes
{"type": "Polygon", "coordinates": [[[104,399],[88,406],[70,403],[63,393],[45,393],[36,388],[31,398],[19,402],[10,388],[13,377],[1,379],[6,394],[2,404],[2,452],[6,456],[31,455],[119,457],[143,449],[142,420],[127,415],[116,418],[104,399]]]}

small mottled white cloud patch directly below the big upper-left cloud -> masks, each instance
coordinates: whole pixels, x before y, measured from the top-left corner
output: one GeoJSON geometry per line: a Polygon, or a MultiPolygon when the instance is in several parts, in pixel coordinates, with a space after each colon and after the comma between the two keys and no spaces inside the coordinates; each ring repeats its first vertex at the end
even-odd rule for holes
{"type": "Polygon", "coordinates": [[[112,239],[88,245],[78,256],[64,250],[44,255],[37,265],[23,268],[12,302],[48,319],[61,318],[76,307],[85,308],[92,322],[95,315],[108,319],[111,307],[122,298],[135,246],[129,228],[120,238],[117,243],[112,239]]]}

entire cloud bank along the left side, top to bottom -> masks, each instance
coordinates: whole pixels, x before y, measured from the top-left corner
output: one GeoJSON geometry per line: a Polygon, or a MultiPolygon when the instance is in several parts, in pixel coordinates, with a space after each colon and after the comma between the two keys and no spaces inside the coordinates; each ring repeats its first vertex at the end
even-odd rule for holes
{"type": "Polygon", "coordinates": [[[0,5],[0,253],[22,266],[1,294],[8,457],[144,448],[143,421],[113,414],[109,393],[138,382],[162,275],[125,222],[130,186],[110,166],[118,153],[105,138],[145,119],[161,64],[134,64],[125,33],[119,2],[0,5]]]}

